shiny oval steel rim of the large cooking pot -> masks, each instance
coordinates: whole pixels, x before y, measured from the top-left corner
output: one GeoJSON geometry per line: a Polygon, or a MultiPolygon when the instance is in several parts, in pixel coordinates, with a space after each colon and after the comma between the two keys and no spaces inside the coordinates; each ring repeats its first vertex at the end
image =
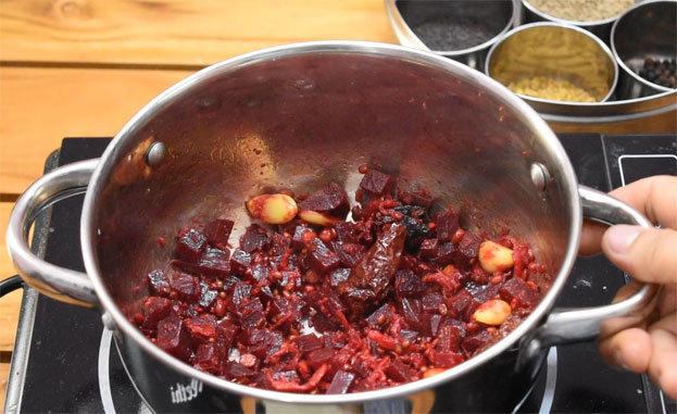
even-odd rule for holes
{"type": "Polygon", "coordinates": [[[101,161],[99,162],[99,165],[97,166],[93,175],[91,176],[91,180],[87,188],[87,193],[85,197],[83,215],[80,219],[80,239],[85,268],[93,285],[100,302],[100,306],[112,316],[116,328],[124,334],[125,338],[130,338],[134,342],[136,342],[136,344],[141,347],[143,351],[159,360],[161,363],[174,368],[183,375],[201,380],[202,382],[213,388],[221,389],[223,391],[229,391],[237,394],[249,396],[264,400],[289,403],[337,404],[390,399],[404,394],[415,393],[428,388],[439,386],[454,378],[459,378],[465,373],[487,363],[491,359],[496,357],[498,354],[515,346],[521,338],[527,337],[528,333],[532,331],[548,314],[548,312],[552,309],[555,298],[562,290],[564,283],[567,279],[567,276],[574,265],[574,261],[577,255],[581,225],[582,208],[580,198],[578,196],[578,183],[574,173],[574,168],[568,161],[564,148],[561,146],[559,139],[550,129],[548,124],[546,124],[546,122],[536,113],[536,111],[531,109],[525,101],[521,100],[516,95],[512,93],[507,88],[502,86],[497,80],[481,74],[480,72],[472,70],[455,61],[437,55],[432,52],[414,50],[401,46],[387,43],[353,40],[334,40],[291,43],[235,57],[221,63],[216,63],[214,65],[205,67],[190,75],[189,77],[170,87],[167,90],[151,100],[121,129],[121,131],[113,138],[112,142],[109,145],[105,152],[101,156],[101,161]],[[493,93],[497,95],[498,98],[502,99],[506,105],[512,106],[512,109],[515,110],[516,113],[521,114],[527,125],[532,126],[532,131],[536,140],[543,148],[550,151],[550,153],[554,155],[553,159],[556,160],[556,165],[552,165],[552,167],[556,167],[557,170],[560,170],[565,179],[565,183],[562,184],[563,189],[567,192],[567,202],[573,209],[572,221],[569,223],[571,233],[567,240],[567,250],[564,255],[562,266],[556,277],[554,277],[553,279],[551,289],[543,297],[543,299],[534,310],[534,312],[505,338],[503,338],[479,355],[472,357],[466,362],[453,368],[447,369],[446,372],[435,375],[430,378],[424,378],[401,386],[374,391],[322,396],[272,391],[235,384],[229,380],[216,377],[214,375],[198,371],[192,366],[175,359],[174,356],[170,355],[168,353],[153,344],[121,312],[113,298],[109,294],[101,277],[97,260],[95,259],[93,247],[96,246],[97,241],[97,229],[95,227],[96,221],[93,213],[97,211],[98,195],[105,186],[105,178],[108,177],[108,175],[104,172],[110,171],[110,168],[112,167],[111,160],[116,158],[116,154],[120,151],[121,143],[131,137],[136,133],[136,130],[145,125],[145,123],[149,118],[151,118],[158,111],[163,109],[165,105],[171,104],[176,99],[183,97],[185,93],[190,92],[192,87],[197,84],[209,80],[212,77],[222,76],[223,74],[241,68],[243,66],[255,64],[261,61],[285,59],[309,53],[350,53],[359,55],[380,55],[393,59],[409,60],[418,64],[425,64],[441,71],[453,73],[454,75],[460,76],[464,80],[476,85],[481,89],[491,90],[493,93]]]}

